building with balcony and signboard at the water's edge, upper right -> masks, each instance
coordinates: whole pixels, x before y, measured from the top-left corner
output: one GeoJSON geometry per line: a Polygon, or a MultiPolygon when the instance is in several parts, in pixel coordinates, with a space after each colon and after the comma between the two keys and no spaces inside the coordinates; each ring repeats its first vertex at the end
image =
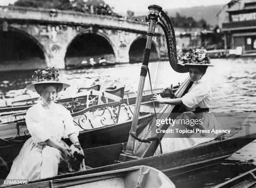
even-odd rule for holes
{"type": "Polygon", "coordinates": [[[231,0],[217,14],[225,49],[256,52],[256,0],[231,0]]]}

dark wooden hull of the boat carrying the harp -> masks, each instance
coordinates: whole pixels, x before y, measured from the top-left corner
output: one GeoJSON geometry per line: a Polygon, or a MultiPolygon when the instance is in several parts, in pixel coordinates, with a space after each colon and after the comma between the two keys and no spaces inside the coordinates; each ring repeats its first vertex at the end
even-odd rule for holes
{"type": "MultiPolygon", "coordinates": [[[[74,178],[79,175],[89,175],[94,173],[106,172],[110,170],[118,170],[123,168],[130,168],[137,165],[147,165],[152,168],[161,170],[170,179],[173,176],[188,171],[203,168],[207,165],[218,163],[225,158],[228,158],[237,150],[241,149],[254,138],[229,138],[223,141],[211,141],[197,145],[195,147],[180,150],[172,153],[156,155],[148,158],[142,158],[138,160],[128,161],[124,163],[113,164],[115,159],[119,157],[119,153],[123,150],[122,144],[116,144],[111,146],[104,146],[98,148],[85,149],[87,165],[94,166],[95,168],[58,175],[53,178],[47,178],[43,180],[37,180],[31,183],[40,182],[41,185],[46,185],[49,180],[63,179],[63,178],[74,178]],[[105,161],[102,161],[105,160],[105,161]],[[108,165],[108,163],[112,163],[108,165]],[[101,166],[105,165],[105,166],[101,166]]],[[[42,186],[47,187],[47,186],[42,186]]]]}

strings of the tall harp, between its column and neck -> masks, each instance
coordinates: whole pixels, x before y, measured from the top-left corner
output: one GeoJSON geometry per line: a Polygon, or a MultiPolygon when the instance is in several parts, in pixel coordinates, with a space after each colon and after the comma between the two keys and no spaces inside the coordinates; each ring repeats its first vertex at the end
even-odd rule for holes
{"type": "MultiPolygon", "coordinates": [[[[158,24],[156,25],[155,34],[156,35],[153,37],[153,44],[151,45],[151,49],[153,48],[153,45],[155,43],[157,53],[151,53],[148,69],[151,76],[153,93],[161,93],[163,82],[166,79],[166,74],[168,71],[168,69],[166,68],[167,67],[169,68],[170,65],[169,65],[169,59],[167,54],[168,46],[166,43],[164,30],[158,24]]],[[[154,104],[150,100],[152,98],[152,95],[151,95],[151,86],[149,82],[149,76],[147,76],[146,78],[145,86],[146,87],[144,87],[144,91],[147,91],[146,94],[148,95],[147,97],[145,97],[146,98],[145,101],[148,101],[148,102],[141,104],[141,108],[140,108],[141,115],[154,113],[154,104]]],[[[162,94],[161,96],[165,97],[162,94]]],[[[156,106],[156,113],[158,113],[159,112],[159,108],[157,108],[158,104],[155,103],[155,106],[156,106]]],[[[154,118],[154,115],[152,115],[150,118],[151,118],[150,120],[152,120],[154,118]]],[[[145,139],[146,136],[148,135],[148,132],[151,130],[154,124],[147,123],[148,117],[143,118],[142,122],[145,124],[144,126],[140,126],[140,128],[137,129],[137,135],[139,138],[145,139]]],[[[141,142],[138,142],[138,140],[135,141],[135,147],[134,147],[135,150],[139,147],[140,144],[141,142]]]]}

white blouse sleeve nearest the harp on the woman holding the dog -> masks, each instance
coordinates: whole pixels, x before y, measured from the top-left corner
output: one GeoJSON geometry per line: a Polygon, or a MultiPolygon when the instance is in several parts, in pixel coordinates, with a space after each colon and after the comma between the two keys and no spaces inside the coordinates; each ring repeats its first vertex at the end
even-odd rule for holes
{"type": "Polygon", "coordinates": [[[72,133],[76,133],[78,136],[79,130],[74,125],[73,117],[71,116],[70,112],[64,107],[62,109],[62,118],[63,118],[64,128],[65,128],[63,138],[68,138],[68,135],[72,133]]]}

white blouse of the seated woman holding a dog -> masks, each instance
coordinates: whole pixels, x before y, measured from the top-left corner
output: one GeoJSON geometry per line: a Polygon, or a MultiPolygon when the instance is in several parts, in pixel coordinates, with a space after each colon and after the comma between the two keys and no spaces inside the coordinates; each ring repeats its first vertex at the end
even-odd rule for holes
{"type": "Polygon", "coordinates": [[[35,143],[44,142],[49,138],[59,142],[61,137],[68,138],[69,134],[79,134],[73,117],[61,104],[54,103],[53,110],[49,110],[38,102],[28,109],[26,124],[35,143]]]}

